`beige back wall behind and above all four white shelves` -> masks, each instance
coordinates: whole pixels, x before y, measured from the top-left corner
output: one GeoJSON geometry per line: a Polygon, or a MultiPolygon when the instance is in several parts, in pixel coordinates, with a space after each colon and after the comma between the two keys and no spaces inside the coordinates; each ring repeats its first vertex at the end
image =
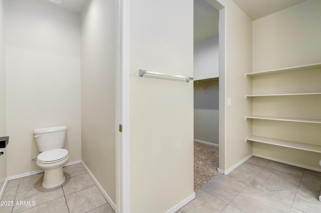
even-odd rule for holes
{"type": "MultiPolygon", "coordinates": [[[[321,1],[307,0],[253,21],[253,71],[321,62],[321,1]]],[[[255,93],[321,91],[321,69],[253,78],[255,93]]],[[[321,118],[319,95],[253,99],[253,114],[321,118]]],[[[320,124],[253,121],[253,134],[321,145],[320,124]]],[[[253,142],[255,155],[319,169],[320,153],[253,142]]]]}

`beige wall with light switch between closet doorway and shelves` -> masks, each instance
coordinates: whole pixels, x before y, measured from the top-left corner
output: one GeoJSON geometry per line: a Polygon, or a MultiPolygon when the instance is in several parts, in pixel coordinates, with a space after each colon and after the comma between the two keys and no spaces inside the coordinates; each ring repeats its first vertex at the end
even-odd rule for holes
{"type": "Polygon", "coordinates": [[[251,125],[245,120],[252,106],[244,98],[252,90],[244,77],[252,70],[252,20],[232,0],[220,2],[226,9],[226,63],[225,79],[220,73],[220,84],[225,85],[224,110],[220,108],[220,113],[225,111],[225,144],[220,141],[219,168],[228,170],[252,154],[252,145],[244,140],[252,133],[251,125]],[[227,106],[228,97],[231,97],[231,106],[227,106]]]}

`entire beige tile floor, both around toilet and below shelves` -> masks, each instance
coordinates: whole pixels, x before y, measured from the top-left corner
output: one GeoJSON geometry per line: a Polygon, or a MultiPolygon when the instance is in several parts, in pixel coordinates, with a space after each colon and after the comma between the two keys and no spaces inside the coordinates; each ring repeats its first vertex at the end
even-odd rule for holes
{"type": "MultiPolygon", "coordinates": [[[[52,189],[42,188],[43,173],[10,180],[2,201],[14,205],[0,205],[0,212],[114,212],[80,163],[64,172],[66,182],[52,189]]],[[[320,188],[321,172],[253,156],[177,212],[321,212],[320,188]]]]}

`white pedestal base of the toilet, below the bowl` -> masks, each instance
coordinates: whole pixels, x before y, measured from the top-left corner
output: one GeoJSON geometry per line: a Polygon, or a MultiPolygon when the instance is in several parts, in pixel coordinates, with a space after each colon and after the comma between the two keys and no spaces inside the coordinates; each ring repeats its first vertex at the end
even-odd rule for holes
{"type": "Polygon", "coordinates": [[[54,169],[46,169],[42,187],[54,188],[65,182],[65,175],[62,166],[54,169]]]}

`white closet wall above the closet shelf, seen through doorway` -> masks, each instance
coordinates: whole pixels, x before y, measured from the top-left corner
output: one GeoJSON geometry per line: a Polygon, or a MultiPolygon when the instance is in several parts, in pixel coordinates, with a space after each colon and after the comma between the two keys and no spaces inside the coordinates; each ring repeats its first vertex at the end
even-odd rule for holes
{"type": "Polygon", "coordinates": [[[219,35],[194,43],[194,80],[219,76],[219,35]]]}

